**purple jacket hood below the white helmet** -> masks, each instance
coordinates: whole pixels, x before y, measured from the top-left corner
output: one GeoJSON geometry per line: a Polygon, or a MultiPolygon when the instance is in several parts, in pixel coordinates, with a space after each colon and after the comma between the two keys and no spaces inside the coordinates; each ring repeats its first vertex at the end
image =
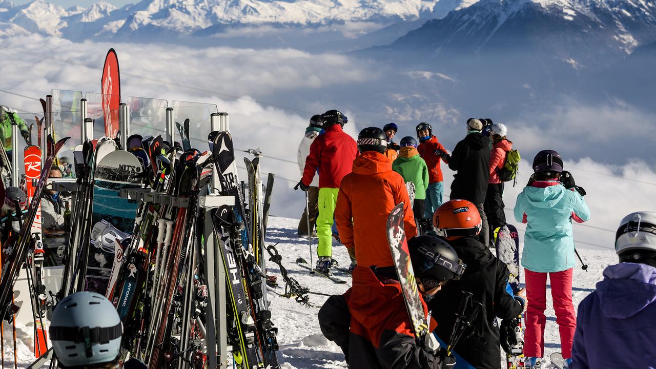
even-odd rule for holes
{"type": "Polygon", "coordinates": [[[629,318],[656,301],[656,268],[645,264],[619,263],[604,270],[597,283],[601,308],[609,318],[629,318]]]}

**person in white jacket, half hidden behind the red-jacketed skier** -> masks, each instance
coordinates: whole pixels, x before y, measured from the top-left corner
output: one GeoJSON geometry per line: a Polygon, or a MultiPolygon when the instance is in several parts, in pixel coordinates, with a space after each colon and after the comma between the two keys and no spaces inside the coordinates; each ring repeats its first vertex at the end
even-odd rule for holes
{"type": "MultiPolygon", "coordinates": [[[[319,134],[323,131],[323,120],[321,115],[312,116],[310,118],[310,125],[305,129],[305,136],[303,137],[300,144],[298,144],[298,169],[300,170],[300,175],[303,175],[303,169],[305,169],[305,160],[310,154],[310,145],[316,139],[319,134]]],[[[303,211],[303,215],[300,217],[300,222],[298,223],[298,237],[307,237],[308,234],[316,236],[316,223],[317,216],[319,215],[319,176],[314,176],[312,183],[310,184],[310,189],[308,190],[308,203],[310,204],[310,209],[306,208],[303,211]],[[312,229],[308,230],[308,217],[310,217],[310,227],[312,229]]]]}

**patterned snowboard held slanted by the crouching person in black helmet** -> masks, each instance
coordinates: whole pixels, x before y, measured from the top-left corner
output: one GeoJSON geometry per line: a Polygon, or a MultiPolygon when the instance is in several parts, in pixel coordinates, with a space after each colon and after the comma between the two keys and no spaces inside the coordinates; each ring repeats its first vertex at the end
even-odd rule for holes
{"type": "Polygon", "coordinates": [[[417,288],[417,282],[415,282],[415,272],[412,269],[410,253],[405,240],[402,202],[392,209],[392,213],[387,218],[387,242],[390,245],[394,268],[399,276],[405,308],[415,332],[415,339],[423,347],[425,337],[432,336],[429,335],[430,331],[424,315],[424,306],[417,288]]]}

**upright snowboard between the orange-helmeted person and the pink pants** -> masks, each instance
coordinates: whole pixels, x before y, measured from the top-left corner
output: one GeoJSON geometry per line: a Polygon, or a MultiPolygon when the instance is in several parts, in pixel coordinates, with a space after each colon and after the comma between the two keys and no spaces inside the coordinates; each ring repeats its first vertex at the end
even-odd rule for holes
{"type": "MultiPolygon", "coordinates": [[[[498,230],[495,230],[497,248],[497,259],[508,265],[510,278],[508,284],[513,293],[520,290],[520,238],[517,228],[514,225],[506,224],[498,230]]],[[[510,353],[506,353],[506,366],[508,369],[523,368],[523,322],[522,315],[518,316],[518,326],[515,330],[518,344],[511,348],[510,353]]]]}

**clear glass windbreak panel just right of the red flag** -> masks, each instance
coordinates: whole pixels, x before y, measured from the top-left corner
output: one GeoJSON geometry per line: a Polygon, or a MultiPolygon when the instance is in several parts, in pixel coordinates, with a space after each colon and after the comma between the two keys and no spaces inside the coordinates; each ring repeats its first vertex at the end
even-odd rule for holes
{"type": "Polygon", "coordinates": [[[160,98],[129,97],[130,135],[161,135],[166,139],[166,109],[169,102],[160,98]]]}

